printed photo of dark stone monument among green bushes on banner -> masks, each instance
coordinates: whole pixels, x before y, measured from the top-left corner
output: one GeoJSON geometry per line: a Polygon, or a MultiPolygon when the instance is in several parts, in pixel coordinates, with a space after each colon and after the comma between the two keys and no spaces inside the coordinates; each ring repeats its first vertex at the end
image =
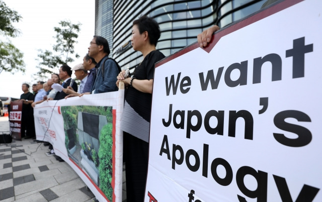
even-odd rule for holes
{"type": "Polygon", "coordinates": [[[112,107],[61,107],[68,157],[112,198],[112,107]]]}

